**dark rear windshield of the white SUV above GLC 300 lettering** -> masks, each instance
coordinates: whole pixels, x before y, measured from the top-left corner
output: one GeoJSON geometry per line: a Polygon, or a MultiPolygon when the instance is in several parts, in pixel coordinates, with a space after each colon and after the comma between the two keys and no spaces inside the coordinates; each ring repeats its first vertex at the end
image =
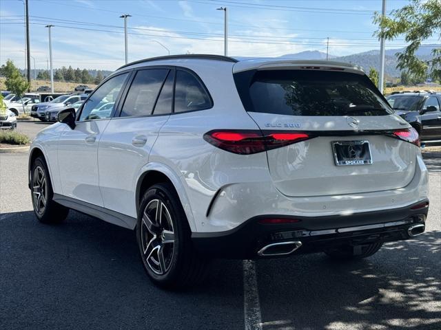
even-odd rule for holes
{"type": "Polygon", "coordinates": [[[389,115],[367,76],[325,70],[264,70],[235,74],[247,111],[277,115],[389,115]]]}

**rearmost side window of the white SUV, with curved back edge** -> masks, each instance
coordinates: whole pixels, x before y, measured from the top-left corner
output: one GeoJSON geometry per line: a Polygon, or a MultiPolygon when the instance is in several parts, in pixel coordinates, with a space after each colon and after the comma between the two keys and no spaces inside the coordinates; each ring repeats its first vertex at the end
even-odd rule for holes
{"type": "Polygon", "coordinates": [[[209,109],[212,102],[195,76],[189,72],[176,72],[174,91],[174,112],[209,109]]]}

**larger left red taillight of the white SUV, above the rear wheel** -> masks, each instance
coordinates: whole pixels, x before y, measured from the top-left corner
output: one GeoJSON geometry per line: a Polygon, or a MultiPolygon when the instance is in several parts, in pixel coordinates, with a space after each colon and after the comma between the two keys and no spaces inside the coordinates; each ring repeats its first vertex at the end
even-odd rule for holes
{"type": "Polygon", "coordinates": [[[205,133],[204,140],[230,153],[250,155],[310,139],[300,132],[215,130],[205,133]]]}

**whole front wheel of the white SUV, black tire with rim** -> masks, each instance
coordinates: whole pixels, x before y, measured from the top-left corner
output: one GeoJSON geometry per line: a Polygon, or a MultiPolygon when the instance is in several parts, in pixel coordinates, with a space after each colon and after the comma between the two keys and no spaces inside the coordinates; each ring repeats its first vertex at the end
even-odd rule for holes
{"type": "Polygon", "coordinates": [[[68,217],[69,209],[53,200],[48,166],[43,157],[37,157],[32,163],[30,187],[34,214],[41,223],[61,223],[68,217]]]}

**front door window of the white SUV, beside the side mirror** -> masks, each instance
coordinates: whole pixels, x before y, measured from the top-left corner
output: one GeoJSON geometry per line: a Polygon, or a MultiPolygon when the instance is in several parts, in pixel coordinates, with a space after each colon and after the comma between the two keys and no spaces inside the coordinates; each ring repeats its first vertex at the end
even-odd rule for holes
{"type": "Polygon", "coordinates": [[[110,78],[99,89],[96,89],[85,102],[79,120],[109,118],[127,76],[128,74],[120,74],[110,78]]]}

